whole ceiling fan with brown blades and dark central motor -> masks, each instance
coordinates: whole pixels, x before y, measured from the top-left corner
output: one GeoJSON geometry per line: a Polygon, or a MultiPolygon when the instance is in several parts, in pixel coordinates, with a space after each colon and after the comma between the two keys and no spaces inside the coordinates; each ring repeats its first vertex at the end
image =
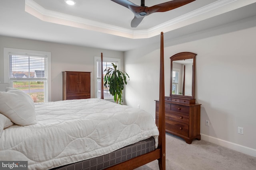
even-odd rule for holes
{"type": "Polygon", "coordinates": [[[131,27],[137,27],[145,16],[153,14],[154,12],[166,12],[178,8],[180,6],[186,5],[195,0],[172,0],[164,2],[162,4],[157,4],[154,6],[145,6],[145,0],[141,0],[141,5],[138,6],[128,0],[112,0],[117,4],[120,4],[134,13],[134,18],[131,22],[131,27]]]}

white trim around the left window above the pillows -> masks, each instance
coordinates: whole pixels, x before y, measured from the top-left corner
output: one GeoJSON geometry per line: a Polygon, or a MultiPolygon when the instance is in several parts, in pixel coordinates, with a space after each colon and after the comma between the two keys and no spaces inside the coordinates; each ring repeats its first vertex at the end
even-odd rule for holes
{"type": "Polygon", "coordinates": [[[26,50],[26,49],[13,49],[13,48],[4,47],[4,83],[10,84],[9,55],[13,53],[47,57],[48,78],[47,78],[47,86],[46,86],[46,95],[47,95],[46,102],[51,102],[52,101],[51,52],[26,50]]]}

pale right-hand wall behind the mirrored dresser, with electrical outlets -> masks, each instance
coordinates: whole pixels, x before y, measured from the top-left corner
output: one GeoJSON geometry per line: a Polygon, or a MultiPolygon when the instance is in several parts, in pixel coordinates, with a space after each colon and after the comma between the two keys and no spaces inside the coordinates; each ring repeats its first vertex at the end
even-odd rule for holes
{"type": "MultiPolygon", "coordinates": [[[[170,93],[169,58],[184,51],[198,54],[195,98],[202,104],[202,139],[256,156],[256,17],[166,40],[164,47],[166,96],[170,93]],[[238,134],[238,126],[244,128],[244,135],[238,134]]],[[[159,98],[159,48],[154,44],[124,55],[130,75],[126,104],[140,104],[153,116],[154,100],[159,98]]]]}

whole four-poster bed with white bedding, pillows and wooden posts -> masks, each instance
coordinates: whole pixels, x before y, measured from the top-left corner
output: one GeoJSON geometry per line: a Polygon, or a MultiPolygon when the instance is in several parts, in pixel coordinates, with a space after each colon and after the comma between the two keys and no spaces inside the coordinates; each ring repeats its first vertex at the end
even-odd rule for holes
{"type": "Polygon", "coordinates": [[[101,99],[34,104],[7,88],[0,92],[0,161],[28,161],[30,170],[116,170],[158,159],[164,170],[163,33],[160,46],[158,127],[146,111],[104,100],[103,90],[101,99]]]}

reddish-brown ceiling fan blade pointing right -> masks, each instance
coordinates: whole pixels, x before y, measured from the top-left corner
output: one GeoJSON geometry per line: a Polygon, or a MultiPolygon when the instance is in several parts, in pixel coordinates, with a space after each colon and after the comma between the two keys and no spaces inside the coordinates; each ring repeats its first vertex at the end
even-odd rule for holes
{"type": "Polygon", "coordinates": [[[166,11],[170,11],[175,8],[178,8],[180,6],[189,4],[190,2],[193,2],[193,1],[195,0],[172,0],[169,2],[164,2],[162,4],[157,4],[151,7],[147,7],[146,12],[149,14],[152,14],[154,12],[166,12],[166,11]]]}

